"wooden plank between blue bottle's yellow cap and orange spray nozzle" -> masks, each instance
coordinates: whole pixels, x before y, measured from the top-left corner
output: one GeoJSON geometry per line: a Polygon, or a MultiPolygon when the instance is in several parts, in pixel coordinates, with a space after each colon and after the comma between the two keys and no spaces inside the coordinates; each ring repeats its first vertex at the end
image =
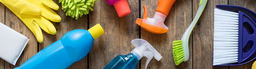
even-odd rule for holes
{"type": "Polygon", "coordinates": [[[126,55],[134,49],[130,41],[139,38],[139,26],[135,24],[139,18],[139,1],[127,1],[131,13],[121,18],[105,0],[96,1],[94,11],[89,13],[89,27],[99,23],[105,31],[94,40],[89,52],[89,69],[102,69],[117,55],[126,55]]]}

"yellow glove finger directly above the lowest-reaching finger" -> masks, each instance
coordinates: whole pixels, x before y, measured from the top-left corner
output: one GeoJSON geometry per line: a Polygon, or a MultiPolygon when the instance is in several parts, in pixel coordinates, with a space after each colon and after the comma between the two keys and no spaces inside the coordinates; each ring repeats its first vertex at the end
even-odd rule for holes
{"type": "Polygon", "coordinates": [[[57,32],[53,24],[43,16],[36,18],[36,23],[40,26],[40,28],[49,34],[55,35],[57,32]]]}

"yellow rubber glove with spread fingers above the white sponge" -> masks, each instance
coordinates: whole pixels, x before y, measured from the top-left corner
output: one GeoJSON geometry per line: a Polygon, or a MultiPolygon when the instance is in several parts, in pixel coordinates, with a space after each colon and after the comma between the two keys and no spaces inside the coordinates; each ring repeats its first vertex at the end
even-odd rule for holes
{"type": "Polygon", "coordinates": [[[38,42],[43,42],[40,27],[49,34],[56,34],[56,29],[49,20],[60,22],[61,18],[52,10],[59,9],[59,6],[52,0],[0,0],[0,2],[26,24],[38,42]]]}

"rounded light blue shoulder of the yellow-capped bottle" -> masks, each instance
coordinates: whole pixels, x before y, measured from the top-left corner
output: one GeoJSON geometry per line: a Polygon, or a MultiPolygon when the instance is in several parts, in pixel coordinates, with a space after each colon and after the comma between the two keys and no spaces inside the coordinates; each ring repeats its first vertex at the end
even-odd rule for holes
{"type": "Polygon", "coordinates": [[[93,37],[88,30],[75,29],[64,34],[60,42],[70,55],[76,55],[75,61],[84,58],[91,50],[93,37]]]}

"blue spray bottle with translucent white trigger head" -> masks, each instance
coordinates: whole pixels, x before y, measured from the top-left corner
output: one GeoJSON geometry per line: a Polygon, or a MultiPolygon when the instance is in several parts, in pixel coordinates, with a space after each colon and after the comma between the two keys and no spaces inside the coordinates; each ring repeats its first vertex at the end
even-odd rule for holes
{"type": "Polygon", "coordinates": [[[160,53],[146,40],[134,39],[131,43],[135,47],[131,53],[116,56],[103,69],[134,69],[143,56],[148,58],[145,65],[145,69],[147,69],[148,63],[153,57],[155,57],[157,61],[162,58],[160,53]]]}

